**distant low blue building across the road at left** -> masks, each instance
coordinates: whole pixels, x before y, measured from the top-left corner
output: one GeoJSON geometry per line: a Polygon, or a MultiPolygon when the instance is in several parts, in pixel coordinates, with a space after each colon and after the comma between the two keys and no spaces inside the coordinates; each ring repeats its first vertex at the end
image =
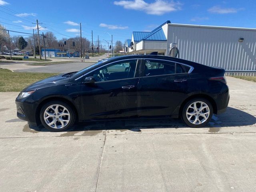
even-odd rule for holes
{"type": "MultiPolygon", "coordinates": [[[[44,49],[41,49],[42,57],[44,57],[44,49]]],[[[46,57],[69,57],[68,51],[61,51],[59,49],[45,49],[46,57]]],[[[79,52],[70,52],[70,57],[79,57],[79,52]]]]}

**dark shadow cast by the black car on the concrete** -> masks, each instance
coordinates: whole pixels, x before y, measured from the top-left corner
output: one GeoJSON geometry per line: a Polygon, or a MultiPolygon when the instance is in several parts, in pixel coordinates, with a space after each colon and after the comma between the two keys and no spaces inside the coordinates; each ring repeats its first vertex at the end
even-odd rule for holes
{"type": "MultiPolygon", "coordinates": [[[[242,110],[228,107],[226,112],[214,115],[205,128],[212,127],[233,127],[248,126],[256,123],[256,117],[242,110]]],[[[42,125],[29,126],[31,129],[40,132],[48,132],[42,125]]],[[[110,121],[90,121],[77,123],[67,131],[86,131],[86,130],[131,130],[140,131],[141,128],[189,128],[180,119],[159,118],[159,119],[138,119],[138,120],[110,120],[110,121]]],[[[66,132],[66,131],[65,131],[66,132]]]]}

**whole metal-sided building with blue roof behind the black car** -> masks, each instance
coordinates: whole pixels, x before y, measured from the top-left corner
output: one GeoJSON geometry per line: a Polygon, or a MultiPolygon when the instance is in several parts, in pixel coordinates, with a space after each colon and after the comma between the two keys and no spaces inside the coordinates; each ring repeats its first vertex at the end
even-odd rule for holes
{"type": "Polygon", "coordinates": [[[178,44],[180,58],[222,67],[230,74],[256,75],[256,29],[171,24],[152,32],[133,32],[128,54],[168,55],[178,44]]]}

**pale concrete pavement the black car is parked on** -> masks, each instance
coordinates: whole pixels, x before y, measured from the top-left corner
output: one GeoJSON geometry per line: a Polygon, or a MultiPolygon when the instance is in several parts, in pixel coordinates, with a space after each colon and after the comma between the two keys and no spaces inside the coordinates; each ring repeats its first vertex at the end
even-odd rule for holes
{"type": "Polygon", "coordinates": [[[204,128],[180,120],[30,128],[0,93],[0,191],[256,191],[256,83],[227,77],[230,103],[204,128]]]}

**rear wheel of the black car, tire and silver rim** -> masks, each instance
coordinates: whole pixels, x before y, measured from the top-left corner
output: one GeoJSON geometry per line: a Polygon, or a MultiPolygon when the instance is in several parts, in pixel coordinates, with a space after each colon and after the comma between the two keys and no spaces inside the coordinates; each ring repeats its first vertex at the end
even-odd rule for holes
{"type": "Polygon", "coordinates": [[[184,105],[182,120],[190,127],[199,128],[208,124],[212,114],[212,104],[207,99],[194,98],[184,105]]]}

